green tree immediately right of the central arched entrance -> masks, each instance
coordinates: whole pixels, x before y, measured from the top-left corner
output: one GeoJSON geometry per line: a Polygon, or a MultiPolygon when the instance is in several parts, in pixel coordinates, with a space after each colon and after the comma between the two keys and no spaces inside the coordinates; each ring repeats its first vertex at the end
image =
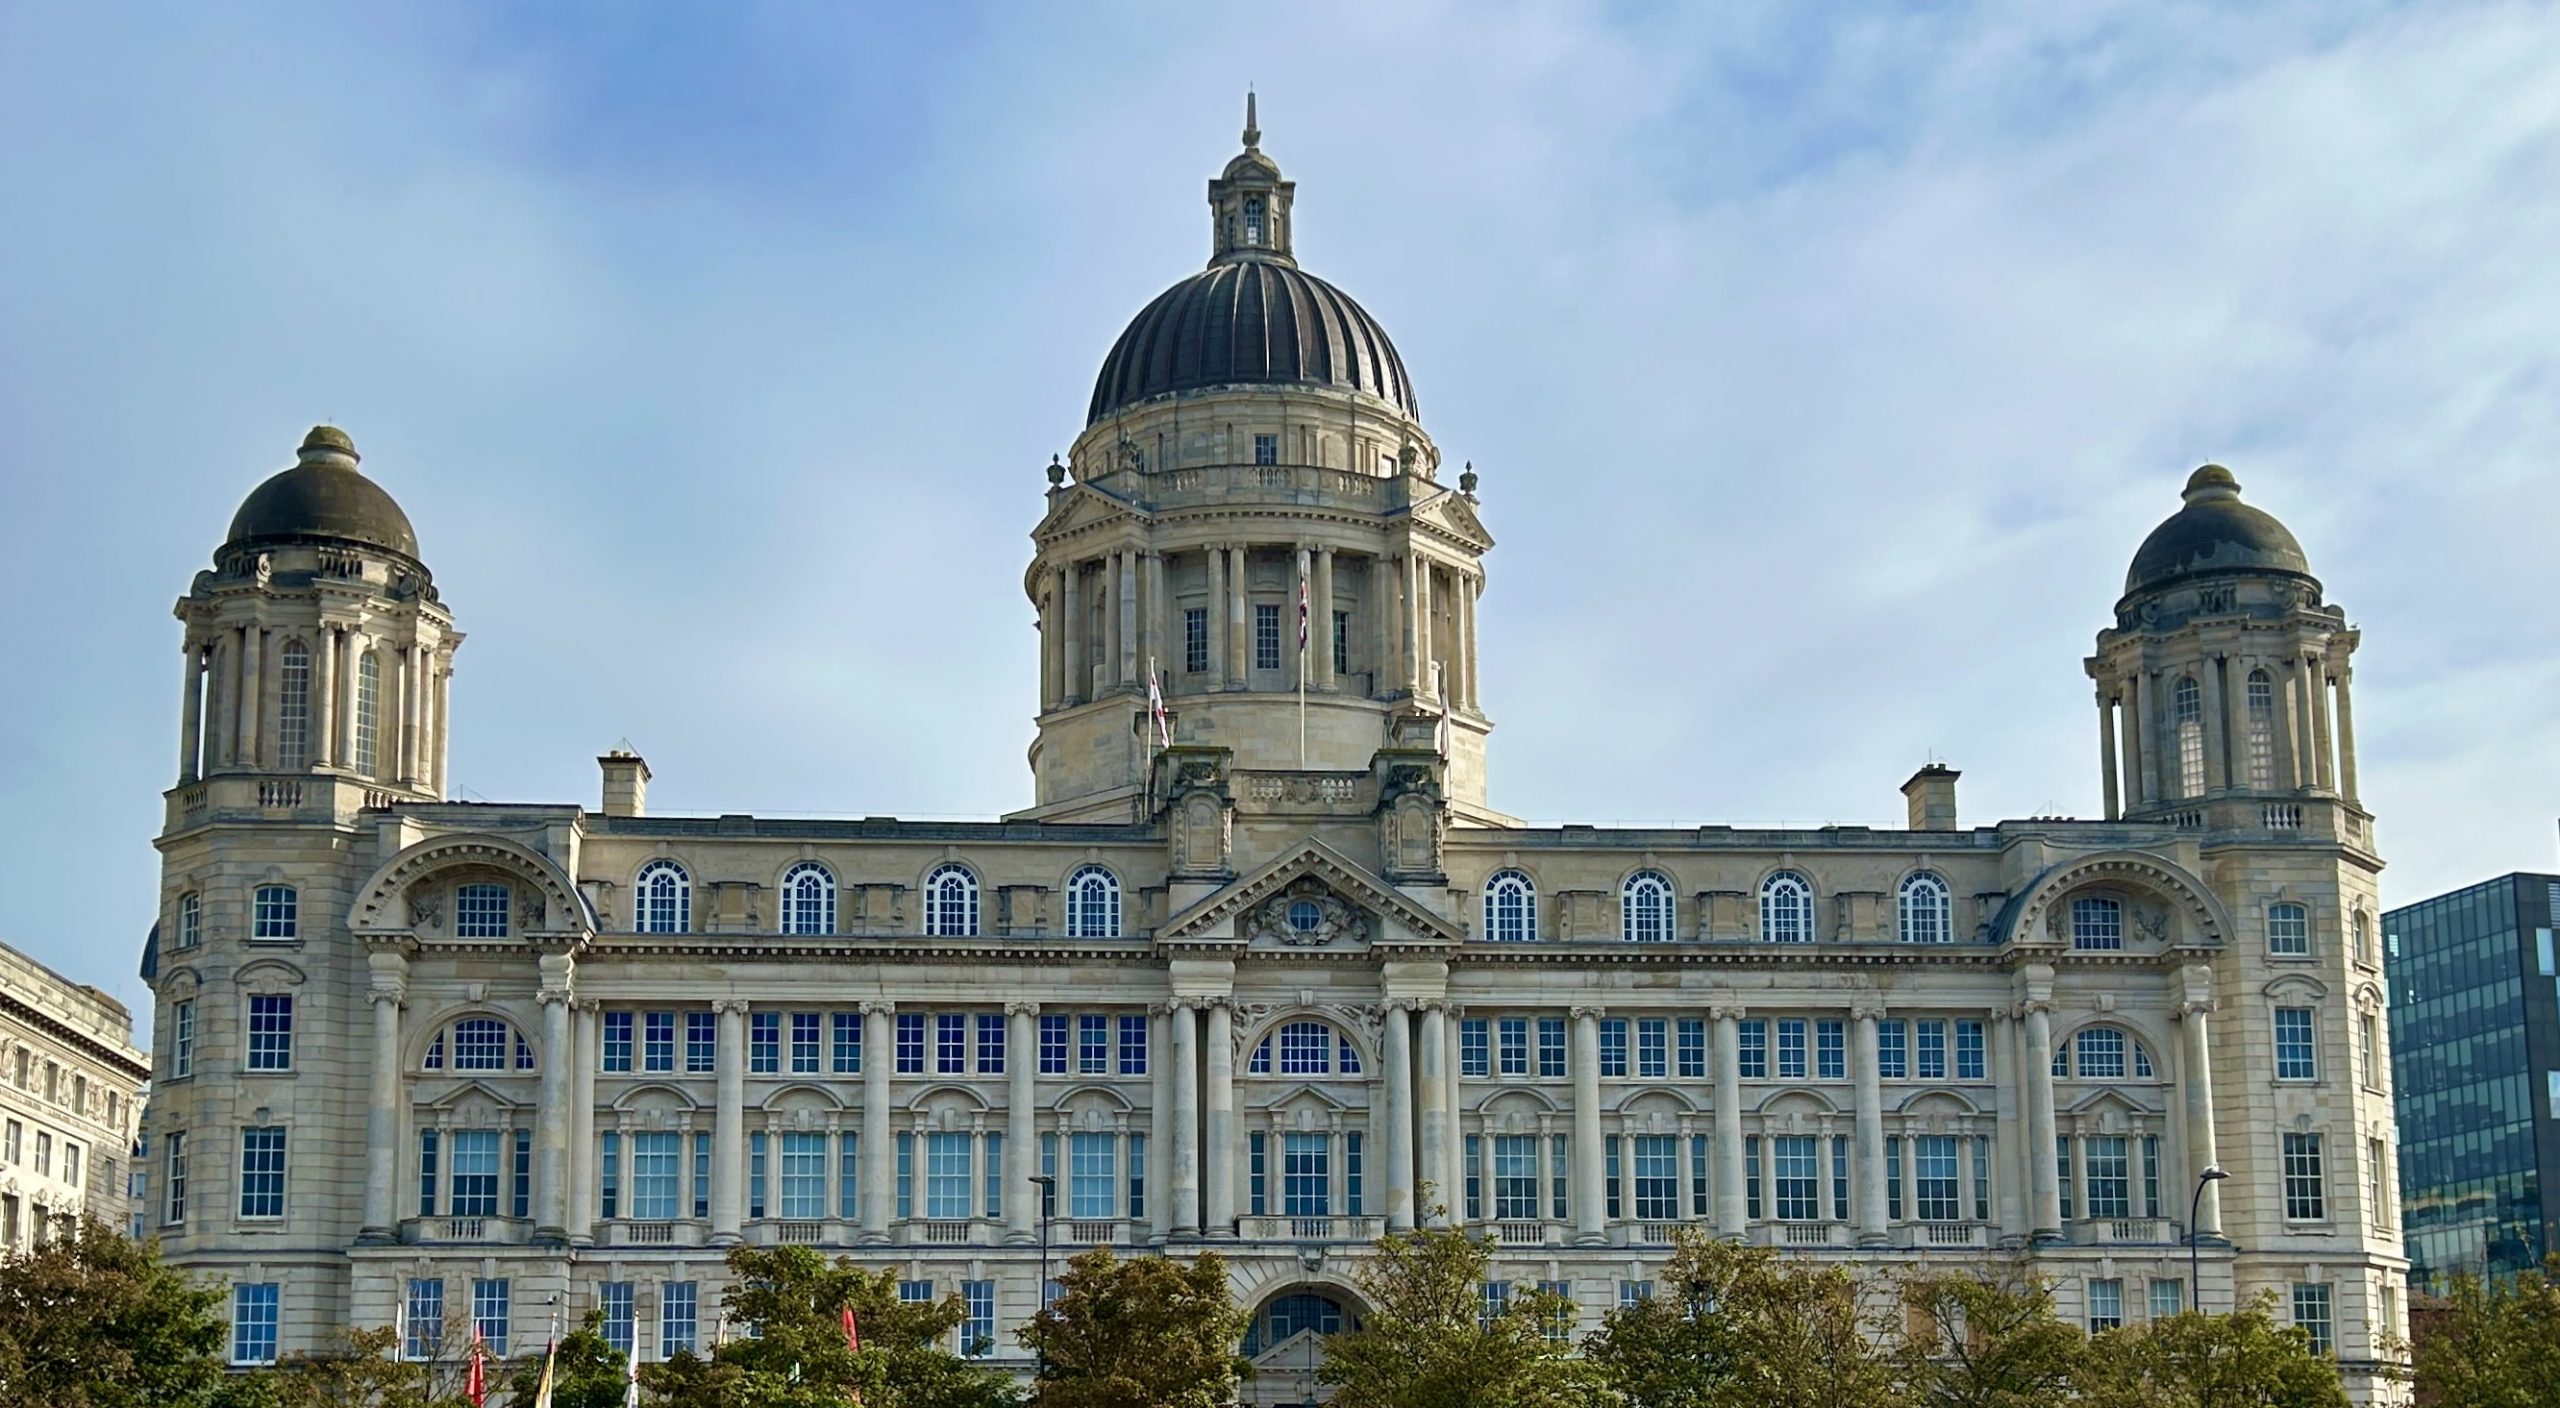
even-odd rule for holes
{"type": "Polygon", "coordinates": [[[1492,1244],[1454,1229],[1390,1231],[1359,1267],[1359,1329],[1326,1336],[1316,1380],[1334,1408],[1587,1408],[1600,1377],[1554,1334],[1572,1303],[1549,1290],[1487,1313],[1492,1244]]]}

